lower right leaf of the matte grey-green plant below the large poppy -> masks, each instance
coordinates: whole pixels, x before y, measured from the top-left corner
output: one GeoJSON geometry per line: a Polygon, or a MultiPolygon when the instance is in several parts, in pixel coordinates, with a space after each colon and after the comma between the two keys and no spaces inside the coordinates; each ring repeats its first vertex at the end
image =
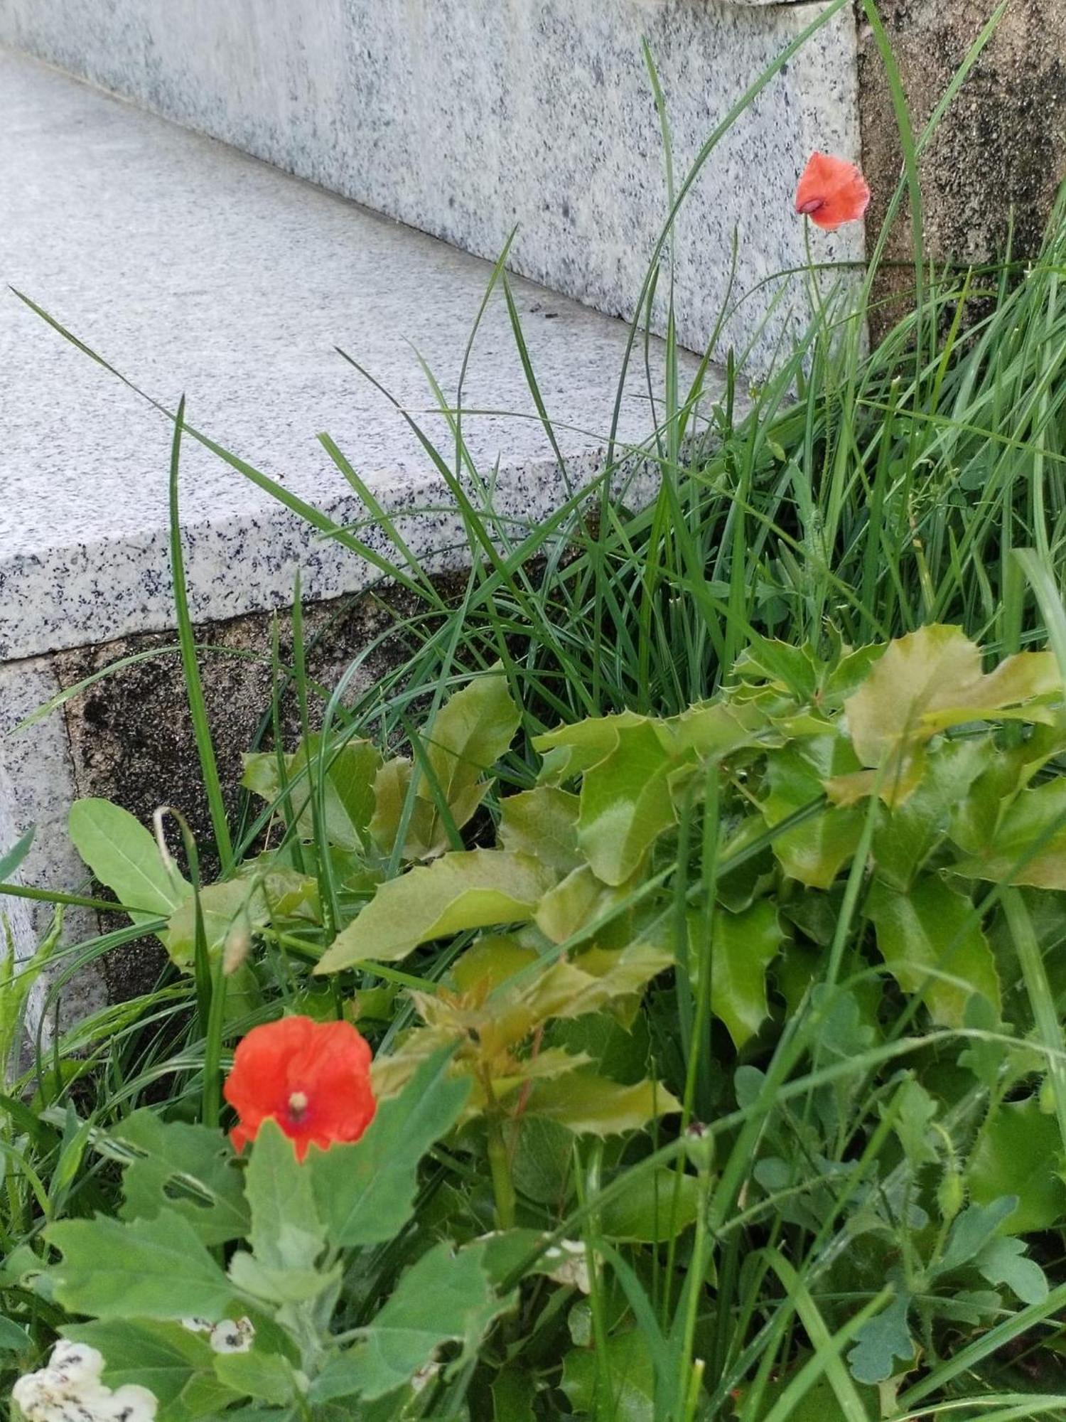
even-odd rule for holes
{"type": "Polygon", "coordinates": [[[473,1357],[485,1330],[507,1307],[489,1287],[483,1254],[483,1243],[458,1254],[438,1244],[401,1274],[385,1307],[344,1355],[344,1391],[335,1395],[382,1398],[402,1388],[446,1342],[462,1344],[453,1367],[473,1357]]]}

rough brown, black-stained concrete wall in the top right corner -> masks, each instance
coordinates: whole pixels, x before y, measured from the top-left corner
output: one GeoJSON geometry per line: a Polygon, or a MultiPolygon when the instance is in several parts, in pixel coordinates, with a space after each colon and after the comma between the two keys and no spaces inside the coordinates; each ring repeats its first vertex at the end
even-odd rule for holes
{"type": "MultiPolygon", "coordinates": [[[[994,13],[995,0],[877,3],[911,121],[920,131],[994,13]]],[[[884,65],[861,0],[856,16],[863,165],[874,195],[868,226],[877,232],[903,154],[884,65]]],[[[1032,255],[1065,178],[1066,0],[1012,0],[921,165],[928,252],[940,259],[992,260],[1006,246],[1013,209],[1015,253],[1032,255]]],[[[911,226],[904,216],[887,255],[907,262],[911,252],[911,226]]],[[[900,289],[908,277],[903,273],[894,280],[900,289]]]]}

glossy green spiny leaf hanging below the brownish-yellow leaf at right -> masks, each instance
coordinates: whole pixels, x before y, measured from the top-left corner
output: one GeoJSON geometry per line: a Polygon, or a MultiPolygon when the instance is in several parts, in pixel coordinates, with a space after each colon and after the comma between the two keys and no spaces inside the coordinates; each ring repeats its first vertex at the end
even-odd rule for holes
{"type": "Polygon", "coordinates": [[[910,893],[874,882],[866,912],[877,950],[904,993],[922,991],[934,1022],[962,1027],[969,998],[979,993],[999,1008],[995,957],[974,907],[938,875],[910,893]]]}

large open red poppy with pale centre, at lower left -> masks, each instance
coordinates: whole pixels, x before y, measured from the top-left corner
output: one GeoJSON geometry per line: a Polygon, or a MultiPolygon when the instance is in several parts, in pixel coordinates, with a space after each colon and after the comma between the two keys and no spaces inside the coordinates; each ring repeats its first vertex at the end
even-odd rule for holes
{"type": "Polygon", "coordinates": [[[377,1108],[370,1047],[351,1022],[283,1017],[253,1027],[237,1044],[226,1101],[240,1118],[230,1132],[237,1150],[267,1119],[291,1136],[300,1160],[310,1145],[358,1140],[377,1108]]]}

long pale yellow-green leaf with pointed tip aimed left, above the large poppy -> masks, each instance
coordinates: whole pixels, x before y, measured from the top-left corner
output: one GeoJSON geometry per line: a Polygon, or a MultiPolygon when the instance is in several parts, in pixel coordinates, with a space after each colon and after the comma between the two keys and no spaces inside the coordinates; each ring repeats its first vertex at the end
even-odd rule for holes
{"type": "Polygon", "coordinates": [[[529,855],[497,849],[442,855],[381,884],[314,971],[394,963],[434,939],[527,921],[549,884],[547,870],[529,855]]]}

